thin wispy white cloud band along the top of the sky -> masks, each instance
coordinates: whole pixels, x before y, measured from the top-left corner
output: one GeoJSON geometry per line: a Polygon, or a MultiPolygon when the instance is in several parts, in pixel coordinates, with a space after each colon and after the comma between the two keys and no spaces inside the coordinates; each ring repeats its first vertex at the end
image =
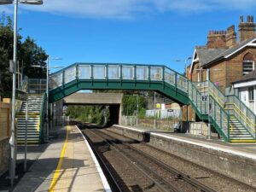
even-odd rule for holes
{"type": "Polygon", "coordinates": [[[131,19],[137,14],[152,12],[172,11],[191,14],[221,9],[253,10],[255,8],[255,0],[44,0],[44,5],[40,6],[22,5],[22,9],[58,15],[107,19],[131,19]]]}

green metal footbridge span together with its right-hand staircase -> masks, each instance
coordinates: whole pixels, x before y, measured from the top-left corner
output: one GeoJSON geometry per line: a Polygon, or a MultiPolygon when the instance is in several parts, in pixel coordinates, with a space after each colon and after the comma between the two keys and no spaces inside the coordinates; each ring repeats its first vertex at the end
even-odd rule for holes
{"type": "Polygon", "coordinates": [[[50,75],[49,102],[79,90],[155,90],[209,118],[224,141],[256,142],[256,115],[238,97],[224,96],[211,81],[192,83],[166,66],[75,63],[50,75]]]}

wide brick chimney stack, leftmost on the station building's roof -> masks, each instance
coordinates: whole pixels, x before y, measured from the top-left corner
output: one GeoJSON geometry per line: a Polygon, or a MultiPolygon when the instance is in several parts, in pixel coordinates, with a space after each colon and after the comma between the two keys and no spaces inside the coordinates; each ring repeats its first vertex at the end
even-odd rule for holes
{"type": "Polygon", "coordinates": [[[207,48],[217,49],[226,48],[226,31],[209,31],[207,48]]]}

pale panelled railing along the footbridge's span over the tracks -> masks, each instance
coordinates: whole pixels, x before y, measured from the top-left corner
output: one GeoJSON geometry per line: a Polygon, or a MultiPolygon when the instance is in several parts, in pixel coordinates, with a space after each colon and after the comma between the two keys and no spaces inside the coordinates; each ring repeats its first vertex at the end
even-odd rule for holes
{"type": "Polygon", "coordinates": [[[165,66],[78,63],[50,75],[50,89],[75,79],[162,81],[188,92],[188,79],[165,66]]]}

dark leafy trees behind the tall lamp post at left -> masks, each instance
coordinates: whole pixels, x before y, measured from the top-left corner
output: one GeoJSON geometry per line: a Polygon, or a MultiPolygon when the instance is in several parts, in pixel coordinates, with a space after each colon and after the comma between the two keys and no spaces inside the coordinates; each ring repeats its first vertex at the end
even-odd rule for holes
{"type": "MultiPolygon", "coordinates": [[[[19,29],[20,31],[20,29],[19,29]]],[[[32,38],[27,37],[22,43],[22,37],[17,38],[17,61],[20,68],[23,64],[24,74],[29,78],[45,78],[46,70],[32,65],[45,66],[47,55],[32,38]]],[[[5,14],[0,18],[0,96],[11,96],[12,74],[9,73],[9,60],[13,60],[14,27],[13,21],[5,14]]]]}

